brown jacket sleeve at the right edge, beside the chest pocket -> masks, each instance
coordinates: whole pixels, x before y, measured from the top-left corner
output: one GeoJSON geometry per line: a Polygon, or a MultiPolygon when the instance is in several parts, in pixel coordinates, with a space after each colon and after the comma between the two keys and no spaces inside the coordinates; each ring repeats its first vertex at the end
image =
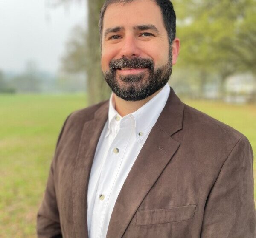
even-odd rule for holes
{"type": "Polygon", "coordinates": [[[207,198],[201,238],[256,238],[253,151],[242,136],[207,198]]]}

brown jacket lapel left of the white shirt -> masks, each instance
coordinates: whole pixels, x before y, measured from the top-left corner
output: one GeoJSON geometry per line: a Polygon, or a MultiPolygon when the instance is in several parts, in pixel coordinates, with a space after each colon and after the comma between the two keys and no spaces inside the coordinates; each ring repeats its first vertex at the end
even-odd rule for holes
{"type": "Polygon", "coordinates": [[[87,238],[87,190],[99,137],[108,119],[108,101],[84,123],[73,173],[72,206],[76,238],[87,238]]]}

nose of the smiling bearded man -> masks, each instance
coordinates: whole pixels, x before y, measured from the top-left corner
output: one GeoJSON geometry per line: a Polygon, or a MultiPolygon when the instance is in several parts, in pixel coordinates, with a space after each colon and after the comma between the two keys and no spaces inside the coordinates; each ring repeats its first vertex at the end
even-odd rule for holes
{"type": "Polygon", "coordinates": [[[121,57],[133,58],[140,56],[140,48],[134,37],[126,36],[123,42],[124,44],[120,50],[121,57]]]}

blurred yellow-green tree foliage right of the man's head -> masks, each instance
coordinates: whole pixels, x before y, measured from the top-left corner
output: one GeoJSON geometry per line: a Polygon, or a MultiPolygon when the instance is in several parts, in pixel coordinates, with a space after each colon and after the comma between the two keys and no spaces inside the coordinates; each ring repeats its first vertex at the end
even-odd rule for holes
{"type": "Polygon", "coordinates": [[[182,11],[177,12],[179,65],[197,68],[201,85],[207,75],[218,74],[223,94],[227,76],[255,71],[255,0],[177,0],[175,4],[182,11]]]}

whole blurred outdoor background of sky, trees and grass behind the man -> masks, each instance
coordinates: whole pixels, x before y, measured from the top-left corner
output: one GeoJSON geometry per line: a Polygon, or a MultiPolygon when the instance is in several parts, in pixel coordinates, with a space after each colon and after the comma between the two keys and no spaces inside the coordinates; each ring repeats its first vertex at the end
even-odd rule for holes
{"type": "MultiPolygon", "coordinates": [[[[64,119],[110,96],[100,66],[103,2],[0,0],[1,238],[35,237],[64,119]]],[[[255,154],[256,0],[172,3],[181,51],[169,85],[247,136],[255,154]]]]}

